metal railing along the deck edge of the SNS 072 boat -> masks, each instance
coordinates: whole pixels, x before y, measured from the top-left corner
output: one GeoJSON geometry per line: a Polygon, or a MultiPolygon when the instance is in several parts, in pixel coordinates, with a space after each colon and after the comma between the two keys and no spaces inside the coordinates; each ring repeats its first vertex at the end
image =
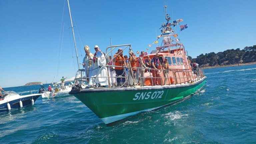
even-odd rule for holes
{"type": "Polygon", "coordinates": [[[147,80],[147,85],[154,86],[155,82],[160,79],[160,85],[177,85],[196,82],[204,77],[204,72],[202,69],[197,70],[173,70],[173,69],[153,69],[153,68],[141,68],[141,67],[128,67],[128,66],[115,66],[115,65],[105,65],[99,68],[96,76],[88,77],[84,76],[83,73],[86,72],[84,69],[79,69],[76,73],[74,85],[79,85],[78,88],[82,88],[82,84],[87,82],[89,85],[87,88],[120,88],[120,87],[131,87],[131,86],[145,86],[145,81],[147,80]],[[123,74],[116,75],[114,67],[123,68],[123,74]],[[99,76],[101,71],[105,69],[107,76],[99,76]],[[136,69],[134,71],[133,69],[136,69]],[[145,70],[147,72],[145,72],[145,70]],[[141,76],[141,71],[144,71],[144,76],[141,76]],[[157,76],[153,77],[153,72],[157,76]],[[113,74],[114,73],[114,74],[113,74]],[[135,74],[134,74],[135,73],[135,74]],[[147,76],[145,77],[145,74],[147,76]],[[80,78],[78,78],[80,75],[80,78]],[[135,77],[134,77],[135,76],[135,77]],[[106,86],[101,86],[96,82],[97,79],[106,79],[106,86]],[[124,83],[116,85],[116,79],[125,79],[124,83]],[[91,82],[89,82],[91,81],[91,82]]]}

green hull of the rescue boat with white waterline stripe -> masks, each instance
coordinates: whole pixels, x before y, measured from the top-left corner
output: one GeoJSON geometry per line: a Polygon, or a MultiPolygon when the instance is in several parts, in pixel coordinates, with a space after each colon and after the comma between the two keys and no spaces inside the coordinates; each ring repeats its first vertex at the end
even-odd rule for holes
{"type": "Polygon", "coordinates": [[[143,111],[178,102],[200,89],[206,77],[191,84],[140,88],[75,89],[70,92],[90,108],[105,124],[143,111]]]}

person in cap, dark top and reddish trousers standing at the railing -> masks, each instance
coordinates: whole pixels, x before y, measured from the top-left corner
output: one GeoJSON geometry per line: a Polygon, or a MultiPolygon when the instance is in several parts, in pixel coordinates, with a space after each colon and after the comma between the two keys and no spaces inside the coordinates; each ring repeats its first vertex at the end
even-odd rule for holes
{"type": "Polygon", "coordinates": [[[154,69],[154,70],[151,70],[151,72],[152,72],[152,76],[155,77],[155,78],[153,78],[153,85],[154,86],[159,85],[158,80],[160,78],[160,74],[159,74],[159,71],[157,69],[158,69],[159,66],[160,66],[160,69],[162,69],[162,66],[161,66],[160,61],[159,61],[158,58],[159,58],[159,54],[156,53],[155,56],[151,59],[151,68],[154,69]]]}

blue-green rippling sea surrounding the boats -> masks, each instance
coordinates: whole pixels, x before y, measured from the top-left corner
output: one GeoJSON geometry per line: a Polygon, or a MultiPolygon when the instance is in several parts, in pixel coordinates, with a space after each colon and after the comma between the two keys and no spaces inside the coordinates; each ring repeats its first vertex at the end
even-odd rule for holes
{"type": "Polygon", "coordinates": [[[255,144],[256,65],[204,72],[206,85],[189,99],[114,126],[74,96],[40,98],[34,106],[0,114],[0,144],[255,144]]]}

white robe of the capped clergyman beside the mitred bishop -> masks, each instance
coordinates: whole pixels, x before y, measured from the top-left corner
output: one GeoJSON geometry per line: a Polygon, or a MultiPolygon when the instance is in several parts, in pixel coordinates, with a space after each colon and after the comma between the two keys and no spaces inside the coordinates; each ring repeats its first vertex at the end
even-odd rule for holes
{"type": "MultiPolygon", "coordinates": [[[[91,77],[95,77],[95,78],[90,78],[88,85],[91,86],[94,83],[94,85],[100,84],[100,86],[108,86],[107,67],[102,67],[106,65],[105,55],[101,51],[97,51],[96,57],[97,59],[95,62],[92,63],[92,67],[91,67],[91,70],[92,70],[91,77]]],[[[109,73],[109,76],[110,76],[110,73],[109,73]]]]}

